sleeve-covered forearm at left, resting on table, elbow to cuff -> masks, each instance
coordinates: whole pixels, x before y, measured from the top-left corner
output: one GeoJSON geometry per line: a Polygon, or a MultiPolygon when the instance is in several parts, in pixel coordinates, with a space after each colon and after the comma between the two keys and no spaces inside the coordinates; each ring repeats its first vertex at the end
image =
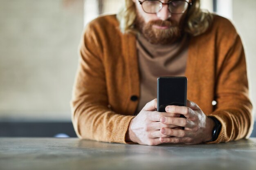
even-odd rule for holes
{"type": "Polygon", "coordinates": [[[125,135],[133,116],[119,115],[100,105],[73,103],[72,121],[81,139],[126,143],[125,135]]]}

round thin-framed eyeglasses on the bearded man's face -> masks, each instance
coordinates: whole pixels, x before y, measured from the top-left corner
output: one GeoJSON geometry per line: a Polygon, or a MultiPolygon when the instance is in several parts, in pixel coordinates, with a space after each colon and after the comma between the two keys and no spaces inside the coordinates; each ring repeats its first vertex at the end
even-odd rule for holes
{"type": "Polygon", "coordinates": [[[192,5],[191,2],[188,2],[186,0],[171,0],[168,3],[163,3],[159,0],[145,0],[143,2],[139,0],[138,3],[141,4],[142,9],[146,13],[157,13],[161,11],[164,4],[167,4],[170,13],[180,14],[184,13],[189,5],[192,5]]]}

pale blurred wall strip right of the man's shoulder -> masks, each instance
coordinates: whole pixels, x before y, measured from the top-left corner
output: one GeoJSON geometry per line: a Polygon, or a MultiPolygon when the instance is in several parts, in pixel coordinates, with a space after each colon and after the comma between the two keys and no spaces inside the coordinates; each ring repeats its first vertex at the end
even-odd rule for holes
{"type": "MultiPolygon", "coordinates": [[[[247,57],[250,97],[256,104],[256,1],[233,0],[233,21],[243,40],[247,57]]],[[[255,115],[255,109],[254,109],[255,115]]],[[[256,117],[255,117],[256,120],[256,117]]]]}

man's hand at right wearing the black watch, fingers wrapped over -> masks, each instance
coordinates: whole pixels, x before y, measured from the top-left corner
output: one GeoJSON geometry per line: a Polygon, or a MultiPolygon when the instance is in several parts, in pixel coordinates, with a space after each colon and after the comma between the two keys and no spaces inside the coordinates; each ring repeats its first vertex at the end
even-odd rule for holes
{"type": "Polygon", "coordinates": [[[185,143],[185,144],[199,144],[201,142],[210,141],[212,139],[212,130],[214,121],[207,117],[197,104],[187,100],[186,106],[166,106],[166,112],[182,117],[161,117],[161,123],[173,126],[185,127],[184,130],[177,130],[163,127],[161,128],[162,135],[169,135],[171,137],[161,137],[160,141],[163,143],[185,143]]]}

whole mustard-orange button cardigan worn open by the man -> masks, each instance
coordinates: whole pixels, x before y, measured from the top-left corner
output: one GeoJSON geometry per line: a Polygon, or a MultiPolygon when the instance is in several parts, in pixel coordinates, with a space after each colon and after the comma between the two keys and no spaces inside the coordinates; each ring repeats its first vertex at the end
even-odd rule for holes
{"type": "MultiPolygon", "coordinates": [[[[79,138],[126,143],[140,95],[135,42],[136,35],[119,31],[116,15],[86,26],[71,101],[79,138]]],[[[214,15],[207,32],[191,37],[185,75],[188,99],[222,124],[218,139],[210,143],[249,137],[253,118],[245,53],[229,20],[214,15]]]]}

